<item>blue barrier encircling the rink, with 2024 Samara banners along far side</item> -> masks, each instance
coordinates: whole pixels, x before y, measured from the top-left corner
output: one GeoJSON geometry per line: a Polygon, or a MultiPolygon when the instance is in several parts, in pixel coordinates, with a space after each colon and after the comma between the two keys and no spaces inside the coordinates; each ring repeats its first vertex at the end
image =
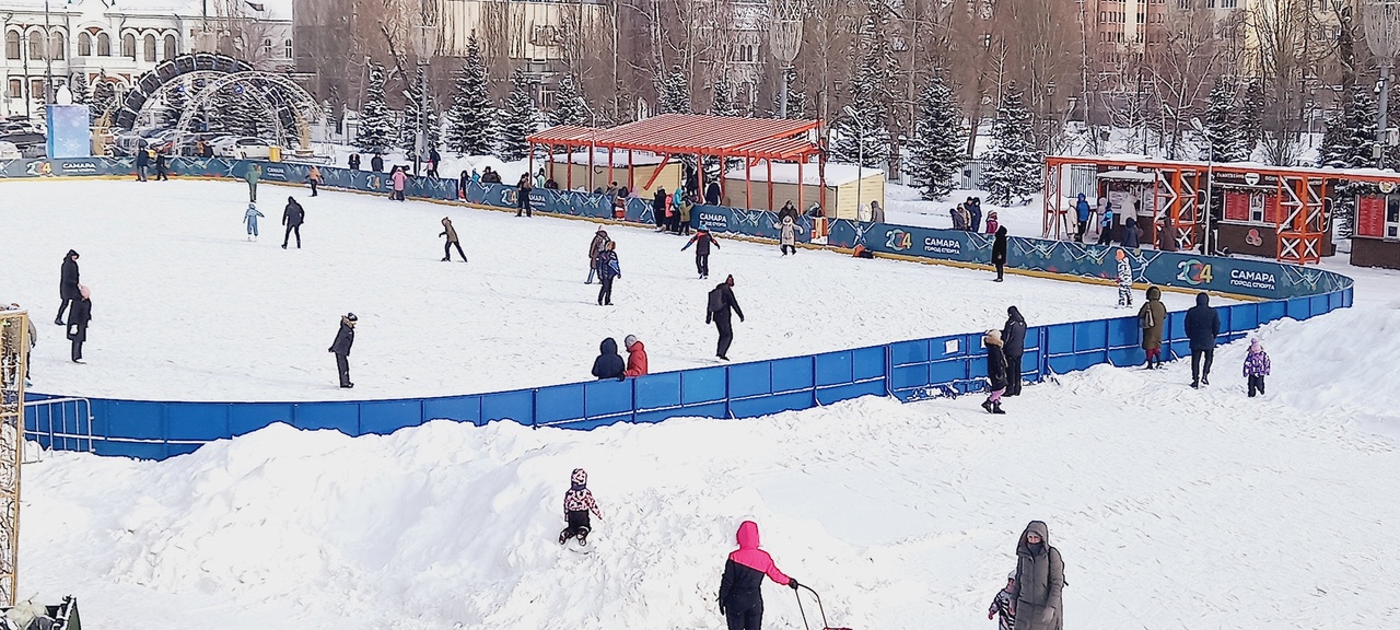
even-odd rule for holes
{"type": "MultiPolygon", "coordinates": [[[[252,162],[176,158],[172,172],[186,176],[241,179],[252,162]]],[[[263,181],[298,183],[309,165],[260,162],[263,181]]],[[[319,167],[325,188],[388,193],[385,174],[319,167]]],[[[0,167],[3,178],[55,175],[116,176],[134,172],[132,160],[20,160],[0,167]]],[[[461,197],[455,179],[410,179],[407,196],[435,200],[461,197]]],[[[514,186],[469,183],[465,202],[517,207],[514,186]]],[[[533,190],[536,211],[610,218],[613,207],[599,195],[533,190]]],[[[629,200],[627,221],[651,223],[650,200],[629,200]]],[[[773,213],[699,206],[693,223],[715,231],[774,238],[773,213]]],[[[804,225],[806,218],[804,217],[804,225]]],[[[809,235],[811,230],[805,235],[809,235]]],[[[805,239],[805,238],[804,238],[805,239]]],[[[990,262],[991,238],[952,230],[833,221],[829,246],[862,244],[890,255],[953,263],[990,262]]],[[[1120,248],[1063,241],[1012,238],[1008,266],[1046,276],[1109,279],[1116,276],[1113,252],[1120,248]]],[[[1309,319],[1352,304],[1351,279],[1322,269],[1267,260],[1211,258],[1191,253],[1124,249],[1134,280],[1183,290],[1217,291],[1263,301],[1217,307],[1218,342],[1245,337],[1282,318],[1309,319]]],[[[1168,358],[1189,356],[1184,312],[1170,312],[1163,332],[1168,358]]],[[[1053,374],[1099,364],[1134,365],[1145,360],[1141,332],[1131,316],[1033,326],[1026,332],[1022,378],[1037,382],[1053,374]]],[[[839,400],[878,395],[899,400],[956,396],[986,389],[981,333],[893,342],[766,361],[651,374],[627,381],[589,381],[507,392],[357,402],[151,402],[91,400],[91,427],[55,427],[53,413],[25,416],[25,430],[45,448],[74,449],[73,440],[49,435],[85,434],[99,455],[164,459],[202,444],[256,431],[274,423],[300,428],[332,428],[347,435],[389,434],[430,420],[472,424],[505,420],[529,427],[589,430],[615,423],[655,423],[671,417],[756,417],[811,409],[839,400]]],[[[81,395],[80,392],[70,392],[81,395]]],[[[31,393],[31,399],[57,398],[31,393]]],[[[71,424],[71,419],[67,420],[71,424]]]]}

